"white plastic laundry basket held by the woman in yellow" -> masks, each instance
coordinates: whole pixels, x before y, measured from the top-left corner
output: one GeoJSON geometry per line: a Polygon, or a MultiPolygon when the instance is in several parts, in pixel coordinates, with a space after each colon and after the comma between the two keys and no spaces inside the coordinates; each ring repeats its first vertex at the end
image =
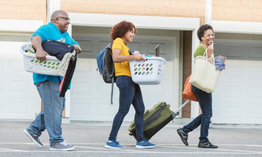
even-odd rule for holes
{"type": "Polygon", "coordinates": [[[132,80],[139,85],[158,85],[162,79],[166,60],[162,57],[144,58],[147,61],[129,61],[132,80]]]}

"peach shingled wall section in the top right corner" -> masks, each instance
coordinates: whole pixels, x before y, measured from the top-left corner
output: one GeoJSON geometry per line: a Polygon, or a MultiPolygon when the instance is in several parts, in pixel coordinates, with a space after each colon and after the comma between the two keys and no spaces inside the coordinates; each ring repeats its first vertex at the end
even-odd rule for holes
{"type": "Polygon", "coordinates": [[[262,22],[262,0],[212,0],[212,20],[262,22]]]}

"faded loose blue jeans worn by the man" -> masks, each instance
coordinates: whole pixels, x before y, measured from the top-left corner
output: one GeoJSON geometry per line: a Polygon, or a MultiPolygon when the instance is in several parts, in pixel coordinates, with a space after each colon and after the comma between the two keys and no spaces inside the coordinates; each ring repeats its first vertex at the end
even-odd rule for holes
{"type": "Polygon", "coordinates": [[[43,102],[43,110],[26,130],[41,136],[41,132],[47,130],[50,146],[56,142],[63,142],[62,137],[62,112],[65,108],[65,98],[59,97],[60,82],[44,81],[35,84],[43,102]]]}

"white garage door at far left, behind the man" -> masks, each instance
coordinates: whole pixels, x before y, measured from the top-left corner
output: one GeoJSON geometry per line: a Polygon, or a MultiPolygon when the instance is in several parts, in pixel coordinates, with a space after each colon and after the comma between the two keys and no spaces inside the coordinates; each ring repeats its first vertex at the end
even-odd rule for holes
{"type": "Polygon", "coordinates": [[[20,47],[30,36],[0,34],[0,119],[34,119],[36,88],[20,47]]]}

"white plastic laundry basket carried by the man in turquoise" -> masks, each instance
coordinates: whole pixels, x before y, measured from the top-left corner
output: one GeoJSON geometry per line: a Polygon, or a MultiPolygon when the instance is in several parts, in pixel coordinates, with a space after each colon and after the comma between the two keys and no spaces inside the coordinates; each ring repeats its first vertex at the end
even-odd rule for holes
{"type": "Polygon", "coordinates": [[[46,61],[40,61],[36,59],[35,54],[24,52],[22,48],[20,49],[20,52],[24,56],[25,71],[59,76],[56,74],[56,70],[61,63],[61,60],[58,60],[54,56],[46,56],[46,61]]]}

